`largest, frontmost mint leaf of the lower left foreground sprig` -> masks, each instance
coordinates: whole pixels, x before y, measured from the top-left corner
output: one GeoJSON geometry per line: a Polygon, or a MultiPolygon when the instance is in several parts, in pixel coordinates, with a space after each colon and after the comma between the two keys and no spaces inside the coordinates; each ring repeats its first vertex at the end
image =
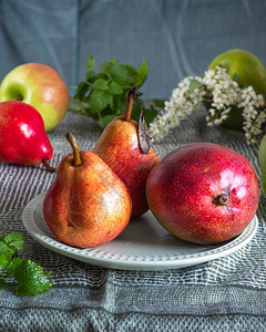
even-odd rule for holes
{"type": "Polygon", "coordinates": [[[48,291],[52,287],[49,274],[43,268],[30,260],[22,261],[14,270],[18,281],[17,295],[37,295],[48,291]]]}

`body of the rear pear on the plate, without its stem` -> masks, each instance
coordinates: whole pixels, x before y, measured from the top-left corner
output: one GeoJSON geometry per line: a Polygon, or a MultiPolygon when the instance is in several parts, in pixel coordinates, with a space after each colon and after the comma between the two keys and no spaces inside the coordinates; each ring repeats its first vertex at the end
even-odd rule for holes
{"type": "Polygon", "coordinates": [[[150,149],[143,154],[137,138],[137,123],[113,120],[104,128],[93,153],[99,155],[126,185],[132,198],[132,218],[149,210],[145,185],[152,168],[158,163],[158,157],[150,149]]]}

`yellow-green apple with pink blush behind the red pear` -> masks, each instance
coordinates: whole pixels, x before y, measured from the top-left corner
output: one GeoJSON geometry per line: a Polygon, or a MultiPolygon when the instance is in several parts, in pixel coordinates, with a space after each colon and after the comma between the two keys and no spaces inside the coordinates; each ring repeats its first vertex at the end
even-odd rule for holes
{"type": "Polygon", "coordinates": [[[69,91],[51,66],[43,63],[24,63],[10,71],[0,85],[0,102],[22,101],[42,116],[45,131],[63,120],[69,106],[69,91]]]}

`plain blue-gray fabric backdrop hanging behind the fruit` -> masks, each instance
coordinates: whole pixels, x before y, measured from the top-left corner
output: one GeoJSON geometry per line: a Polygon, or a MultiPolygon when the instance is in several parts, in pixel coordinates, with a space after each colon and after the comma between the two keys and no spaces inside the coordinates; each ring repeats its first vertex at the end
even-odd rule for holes
{"type": "MultiPolygon", "coordinates": [[[[89,54],[150,72],[144,98],[167,98],[228,49],[266,64],[264,0],[0,0],[0,80],[23,62],[44,62],[68,83],[85,79],[89,54]]],[[[73,94],[73,90],[71,90],[73,94]]]]}

